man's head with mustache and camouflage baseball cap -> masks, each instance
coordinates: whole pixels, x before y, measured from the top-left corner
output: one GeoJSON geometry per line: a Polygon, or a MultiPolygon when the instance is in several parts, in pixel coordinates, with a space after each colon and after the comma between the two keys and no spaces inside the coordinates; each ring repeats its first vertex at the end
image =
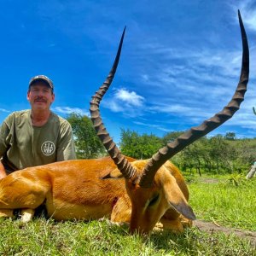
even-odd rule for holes
{"type": "Polygon", "coordinates": [[[33,77],[28,86],[27,100],[32,106],[32,110],[47,110],[55,100],[52,81],[44,75],[33,77]]]}

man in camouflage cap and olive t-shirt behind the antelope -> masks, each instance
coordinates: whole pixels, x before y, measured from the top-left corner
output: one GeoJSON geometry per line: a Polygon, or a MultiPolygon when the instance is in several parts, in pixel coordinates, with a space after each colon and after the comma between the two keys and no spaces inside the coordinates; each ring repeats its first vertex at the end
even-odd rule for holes
{"type": "Polygon", "coordinates": [[[76,158],[73,131],[66,119],[51,112],[54,85],[44,75],[33,77],[27,100],[31,109],[11,113],[0,130],[0,178],[29,166],[76,158]]]}

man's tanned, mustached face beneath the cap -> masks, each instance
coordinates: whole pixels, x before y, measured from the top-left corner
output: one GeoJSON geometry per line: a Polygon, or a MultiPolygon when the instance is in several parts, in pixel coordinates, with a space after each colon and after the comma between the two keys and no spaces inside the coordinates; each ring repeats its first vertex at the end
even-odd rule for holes
{"type": "Polygon", "coordinates": [[[32,84],[30,90],[27,92],[27,100],[30,102],[32,109],[45,110],[55,100],[55,95],[47,84],[38,81],[32,84]]]}

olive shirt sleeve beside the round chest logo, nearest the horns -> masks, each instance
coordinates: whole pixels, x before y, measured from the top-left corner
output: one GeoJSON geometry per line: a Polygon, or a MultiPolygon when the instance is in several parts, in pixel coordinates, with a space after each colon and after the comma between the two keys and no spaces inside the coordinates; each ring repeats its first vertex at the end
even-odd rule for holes
{"type": "Polygon", "coordinates": [[[57,145],[56,160],[76,159],[73,131],[67,120],[61,125],[60,139],[57,145]]]}

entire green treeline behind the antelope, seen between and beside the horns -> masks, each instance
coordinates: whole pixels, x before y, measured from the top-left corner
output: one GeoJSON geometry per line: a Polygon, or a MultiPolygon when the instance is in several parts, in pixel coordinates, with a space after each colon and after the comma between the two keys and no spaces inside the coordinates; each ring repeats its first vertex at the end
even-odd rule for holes
{"type": "MultiPolygon", "coordinates": [[[[73,126],[78,158],[96,158],[107,154],[88,117],[73,113],[67,120],[73,126]]],[[[174,131],[157,137],[123,129],[119,148],[127,156],[148,159],[182,133],[174,131]]],[[[176,154],[172,162],[183,172],[198,172],[200,175],[201,172],[247,172],[256,160],[255,148],[256,139],[237,139],[235,133],[228,132],[225,136],[201,137],[176,154]]]]}

